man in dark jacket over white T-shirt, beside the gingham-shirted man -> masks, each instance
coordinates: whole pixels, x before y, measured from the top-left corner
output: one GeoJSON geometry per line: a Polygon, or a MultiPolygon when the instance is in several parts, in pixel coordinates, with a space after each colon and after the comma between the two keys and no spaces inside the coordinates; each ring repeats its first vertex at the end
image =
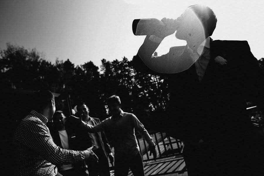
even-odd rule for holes
{"type": "MultiPolygon", "coordinates": [[[[79,148],[79,138],[76,137],[75,130],[69,129],[70,126],[66,128],[66,117],[62,111],[56,111],[53,115],[53,126],[50,126],[50,134],[53,141],[60,148],[69,150],[80,150],[79,148]]],[[[64,164],[58,165],[59,172],[64,175],[79,175],[88,176],[89,172],[87,170],[87,165],[84,160],[79,161],[74,164],[64,164]]]]}

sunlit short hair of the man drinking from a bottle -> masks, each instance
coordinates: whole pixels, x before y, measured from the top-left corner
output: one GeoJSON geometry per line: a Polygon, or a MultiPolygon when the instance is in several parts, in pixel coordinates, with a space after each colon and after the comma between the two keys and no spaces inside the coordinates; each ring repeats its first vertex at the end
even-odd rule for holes
{"type": "Polygon", "coordinates": [[[205,26],[203,21],[202,23],[203,23],[204,28],[206,28],[208,35],[211,36],[214,32],[214,29],[216,27],[216,22],[217,22],[217,18],[214,14],[214,11],[207,6],[200,5],[200,4],[195,4],[195,5],[189,6],[188,8],[191,8],[192,11],[197,15],[199,19],[201,19],[201,17],[206,14],[209,15],[207,26],[205,26]]]}

